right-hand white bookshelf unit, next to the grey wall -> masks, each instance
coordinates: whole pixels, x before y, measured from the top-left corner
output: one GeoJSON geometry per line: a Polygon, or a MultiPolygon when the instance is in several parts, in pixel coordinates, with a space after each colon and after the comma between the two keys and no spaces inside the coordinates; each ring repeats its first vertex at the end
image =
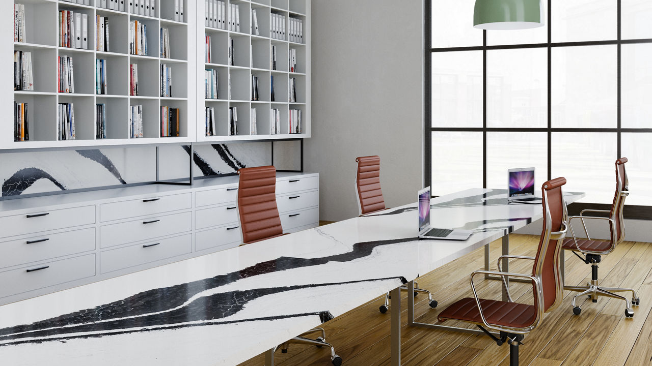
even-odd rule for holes
{"type": "MultiPolygon", "coordinates": [[[[197,141],[250,141],[310,137],[310,0],[227,0],[239,5],[240,32],[205,26],[204,1],[198,0],[197,68],[197,141]],[[255,35],[251,10],[256,9],[259,35],[255,35]],[[304,43],[289,42],[270,37],[270,14],[282,14],[289,29],[289,18],[303,20],[304,43]],[[205,35],[211,36],[211,63],[205,61],[205,35]],[[234,62],[228,61],[229,39],[233,38],[234,62]],[[270,64],[271,46],[276,46],[276,70],[270,64]],[[297,72],[288,72],[288,49],[296,49],[297,72]],[[218,72],[218,99],[206,99],[204,70],[218,72]],[[258,77],[259,100],[251,100],[251,77],[258,77]],[[271,76],[274,77],[274,101],[271,101],[271,76]],[[228,83],[231,78],[231,93],[228,83]],[[289,78],[295,77],[297,102],[288,101],[289,78]],[[205,108],[215,108],[216,135],[205,135],[205,108]],[[229,108],[238,108],[237,135],[228,134],[229,108]],[[250,131],[250,109],[256,109],[257,134],[250,131]],[[280,109],[280,134],[270,134],[271,109],[280,109]],[[289,109],[300,109],[303,129],[301,134],[289,134],[289,109]]],[[[228,10],[227,10],[228,21],[228,10]]],[[[228,28],[228,27],[227,27],[228,28]]]]}

